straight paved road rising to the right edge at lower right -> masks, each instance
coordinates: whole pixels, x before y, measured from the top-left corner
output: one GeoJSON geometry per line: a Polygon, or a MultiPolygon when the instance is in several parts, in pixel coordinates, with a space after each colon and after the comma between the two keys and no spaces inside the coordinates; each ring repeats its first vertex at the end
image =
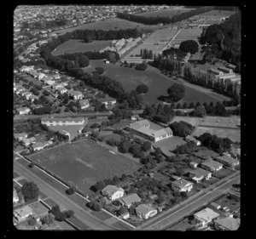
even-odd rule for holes
{"type": "MultiPolygon", "coordinates": [[[[226,191],[229,191],[233,184],[236,184],[237,181],[240,181],[240,174],[236,175],[236,178],[229,179],[224,185],[217,186],[212,191],[207,191],[206,195],[202,195],[199,199],[190,202],[184,208],[177,210],[174,213],[170,213],[169,216],[164,217],[164,219],[157,219],[157,221],[148,224],[143,227],[143,230],[162,230],[169,225],[177,222],[179,219],[183,219],[189,213],[193,213],[196,208],[201,208],[203,205],[207,205],[208,202],[211,202],[217,196],[224,194],[226,191]]],[[[137,228],[138,229],[138,228],[137,228]]]]}

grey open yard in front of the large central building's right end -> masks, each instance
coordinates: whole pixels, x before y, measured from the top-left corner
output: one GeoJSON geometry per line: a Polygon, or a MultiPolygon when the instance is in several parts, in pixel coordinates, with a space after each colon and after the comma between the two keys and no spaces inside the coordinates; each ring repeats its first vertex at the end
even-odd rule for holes
{"type": "Polygon", "coordinates": [[[153,143],[155,147],[160,147],[160,149],[167,155],[167,156],[173,156],[174,154],[172,151],[174,151],[177,147],[177,145],[184,145],[186,142],[181,137],[172,136],[168,139],[162,139],[158,142],[153,143]]]}

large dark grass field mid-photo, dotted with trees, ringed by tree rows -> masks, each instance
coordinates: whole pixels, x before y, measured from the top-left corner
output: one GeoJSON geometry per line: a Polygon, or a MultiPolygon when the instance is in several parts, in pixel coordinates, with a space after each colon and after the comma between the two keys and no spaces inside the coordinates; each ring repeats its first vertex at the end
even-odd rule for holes
{"type": "MultiPolygon", "coordinates": [[[[102,60],[90,60],[90,67],[84,68],[85,72],[94,71],[95,67],[100,66],[105,69],[105,76],[110,77],[122,84],[125,91],[131,91],[137,88],[141,83],[148,85],[149,91],[147,94],[143,94],[143,103],[147,104],[160,104],[162,101],[157,100],[160,95],[167,95],[167,88],[170,88],[173,83],[176,83],[172,78],[166,77],[161,74],[159,70],[148,67],[146,71],[137,71],[134,68],[126,68],[119,65],[105,65],[102,60]],[[88,68],[88,70],[87,70],[88,68]]],[[[189,84],[188,84],[189,85],[189,84]]],[[[180,101],[183,102],[207,102],[211,101],[216,103],[217,101],[224,100],[222,95],[218,94],[219,97],[209,95],[208,89],[195,86],[196,88],[201,88],[201,91],[187,86],[184,84],[186,95],[180,101]],[[205,91],[205,92],[203,92],[205,91]]]]}

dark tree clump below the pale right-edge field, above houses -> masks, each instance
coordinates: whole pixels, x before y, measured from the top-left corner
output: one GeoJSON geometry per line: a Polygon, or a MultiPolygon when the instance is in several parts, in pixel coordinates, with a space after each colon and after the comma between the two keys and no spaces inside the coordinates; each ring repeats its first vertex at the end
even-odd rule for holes
{"type": "Polygon", "coordinates": [[[233,143],[229,138],[219,138],[217,135],[209,133],[201,134],[198,139],[202,145],[218,153],[229,151],[233,143]]]}

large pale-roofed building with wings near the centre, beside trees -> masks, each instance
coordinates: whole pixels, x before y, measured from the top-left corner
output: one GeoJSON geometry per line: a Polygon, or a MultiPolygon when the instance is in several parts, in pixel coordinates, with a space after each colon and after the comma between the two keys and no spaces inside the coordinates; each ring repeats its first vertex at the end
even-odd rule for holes
{"type": "Polygon", "coordinates": [[[171,128],[161,128],[159,125],[154,122],[149,122],[148,120],[132,122],[127,128],[130,128],[132,133],[139,134],[154,142],[172,137],[171,128]]]}

